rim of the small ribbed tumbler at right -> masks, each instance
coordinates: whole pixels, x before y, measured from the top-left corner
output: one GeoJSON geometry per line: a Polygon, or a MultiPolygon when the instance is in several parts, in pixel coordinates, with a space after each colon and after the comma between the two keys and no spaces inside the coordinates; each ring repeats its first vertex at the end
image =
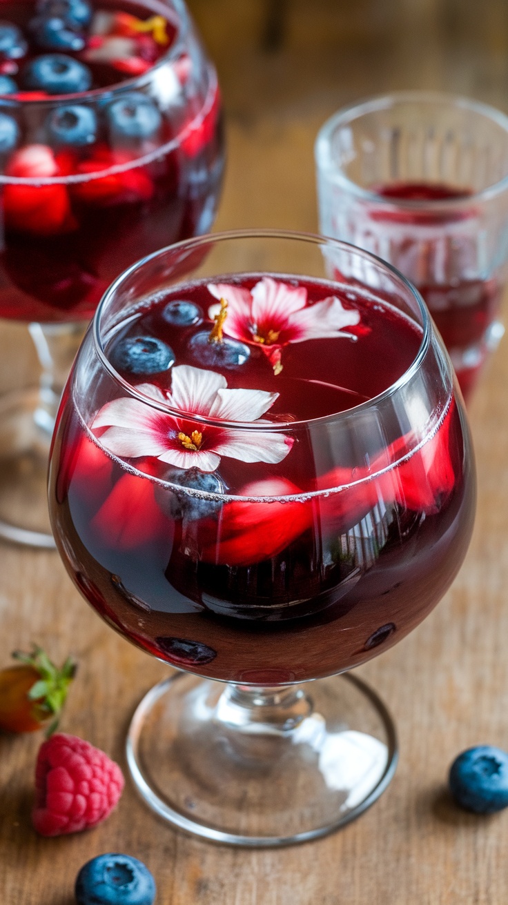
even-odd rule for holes
{"type": "Polygon", "coordinates": [[[478,113],[485,119],[495,122],[508,136],[508,116],[502,110],[497,110],[490,104],[485,104],[481,100],[473,100],[461,94],[453,94],[447,91],[429,91],[429,90],[403,90],[390,91],[386,94],[378,94],[373,97],[357,100],[346,107],[341,107],[327,119],[319,130],[314,143],[314,159],[318,173],[323,173],[331,182],[346,189],[350,195],[356,195],[362,201],[371,204],[382,205],[384,207],[392,207],[394,209],[404,209],[410,211],[426,211],[429,208],[433,210],[449,210],[460,209],[464,206],[471,206],[475,203],[490,201],[497,195],[502,195],[508,190],[508,173],[502,179],[498,179],[491,186],[486,186],[472,195],[466,195],[460,198],[430,199],[430,200],[407,200],[398,198],[388,198],[385,195],[379,195],[377,192],[370,191],[367,188],[359,186],[349,176],[346,176],[343,170],[331,160],[331,136],[340,125],[347,125],[355,119],[359,119],[365,113],[372,113],[377,110],[389,110],[390,107],[396,106],[398,103],[438,103],[441,105],[454,106],[471,110],[478,113]]]}

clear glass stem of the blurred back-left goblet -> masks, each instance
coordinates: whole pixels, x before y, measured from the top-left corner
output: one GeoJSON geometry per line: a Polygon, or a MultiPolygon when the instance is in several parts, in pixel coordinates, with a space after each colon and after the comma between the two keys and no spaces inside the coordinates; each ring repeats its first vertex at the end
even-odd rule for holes
{"type": "Polygon", "coordinates": [[[63,387],[86,327],[87,324],[82,321],[29,324],[28,329],[42,368],[34,422],[44,433],[53,433],[63,387]]]}

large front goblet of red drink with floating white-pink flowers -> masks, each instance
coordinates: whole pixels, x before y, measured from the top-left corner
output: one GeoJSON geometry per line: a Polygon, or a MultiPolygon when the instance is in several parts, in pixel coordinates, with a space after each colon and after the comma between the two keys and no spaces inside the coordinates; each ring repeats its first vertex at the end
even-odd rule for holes
{"type": "Polygon", "coordinates": [[[129,729],[159,815],[279,845],[372,804],[396,731],[346,671],[436,605],[474,519],[462,397],[405,278],[301,233],[150,255],[86,334],[49,487],[81,594],[180,671],[129,729]]]}

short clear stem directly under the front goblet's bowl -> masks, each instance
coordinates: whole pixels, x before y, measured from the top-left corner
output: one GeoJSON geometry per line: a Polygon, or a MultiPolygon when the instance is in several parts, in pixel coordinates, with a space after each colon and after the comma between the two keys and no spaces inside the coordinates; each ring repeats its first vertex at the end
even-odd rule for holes
{"type": "Polygon", "coordinates": [[[311,716],[312,700],[298,685],[227,684],[217,701],[216,721],[247,733],[286,735],[311,716]]]}

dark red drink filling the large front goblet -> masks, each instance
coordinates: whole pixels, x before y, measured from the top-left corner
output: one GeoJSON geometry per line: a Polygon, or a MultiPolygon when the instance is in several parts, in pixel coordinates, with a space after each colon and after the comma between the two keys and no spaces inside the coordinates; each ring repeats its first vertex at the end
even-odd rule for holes
{"type": "MultiPolygon", "coordinates": [[[[311,302],[330,295],[330,284],[306,285],[311,302]]],[[[168,327],[168,295],[115,334],[110,357],[126,335],[149,334],[170,343],[173,367],[196,367],[188,342],[211,328],[214,300],[203,285],[180,287],[182,297],[199,304],[200,324],[168,327]]],[[[260,684],[340,672],[409,632],[455,576],[474,479],[453,397],[416,451],[409,424],[388,418],[379,433],[369,410],[361,440],[342,422],[297,424],[379,395],[417,355],[421,331],[397,310],[359,291],[340,298],[359,310],[356,341],[290,343],[278,375],[254,342],[245,365],[221,372],[228,387],[280,393],[264,418],[283,424],[293,445],[276,464],[223,456],[216,473],[235,499],[225,493],[202,517],[186,516],[181,487],[153,480],[164,481],[164,462],[111,458],[85,431],[72,391],[62,404],[50,500],[63,561],[98,613],[162,660],[260,684]],[[305,496],[326,489],[340,490],[305,496]]],[[[170,372],[135,382],[147,379],[168,387],[170,372]]],[[[106,401],[97,397],[94,412],[106,401]]],[[[206,433],[192,417],[184,424],[206,433]]]]}

